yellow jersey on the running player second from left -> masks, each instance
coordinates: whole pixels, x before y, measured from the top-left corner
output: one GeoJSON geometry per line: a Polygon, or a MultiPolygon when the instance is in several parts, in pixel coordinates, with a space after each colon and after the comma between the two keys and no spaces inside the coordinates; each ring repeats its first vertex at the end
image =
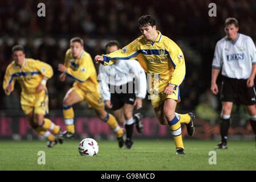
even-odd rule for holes
{"type": "Polygon", "coordinates": [[[64,65],[67,67],[66,75],[75,80],[73,86],[89,92],[99,89],[96,69],[89,53],[83,50],[81,55],[74,59],[71,49],[68,49],[64,65]]]}

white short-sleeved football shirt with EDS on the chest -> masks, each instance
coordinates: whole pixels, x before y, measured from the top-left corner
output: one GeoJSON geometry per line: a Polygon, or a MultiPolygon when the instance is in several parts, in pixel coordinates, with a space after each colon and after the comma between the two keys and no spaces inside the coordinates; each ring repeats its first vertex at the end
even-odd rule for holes
{"type": "Polygon", "coordinates": [[[217,42],[212,68],[222,68],[223,76],[247,79],[253,64],[256,64],[256,48],[249,36],[238,34],[233,41],[225,36],[217,42]]]}

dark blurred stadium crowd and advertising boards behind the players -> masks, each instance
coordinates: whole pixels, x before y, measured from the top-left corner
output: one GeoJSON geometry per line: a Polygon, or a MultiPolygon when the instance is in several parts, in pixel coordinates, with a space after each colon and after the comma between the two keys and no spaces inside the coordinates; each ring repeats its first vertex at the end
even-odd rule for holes
{"type": "MultiPolygon", "coordinates": [[[[200,139],[219,138],[218,117],[220,101],[210,94],[211,64],[217,40],[224,34],[224,20],[238,19],[240,32],[256,40],[256,1],[0,1],[0,77],[1,85],[5,69],[11,60],[11,47],[19,43],[25,46],[27,57],[46,61],[54,68],[54,77],[48,81],[50,92],[50,118],[64,127],[62,100],[72,85],[72,80],[59,81],[58,64],[63,63],[68,41],[81,36],[85,49],[94,57],[104,53],[108,40],[119,40],[125,46],[140,36],[137,19],[151,14],[157,19],[157,29],[174,40],[182,49],[186,61],[186,78],[181,85],[180,113],[194,111],[196,135],[200,139]],[[46,5],[46,17],[37,16],[37,5],[46,5]],[[217,5],[217,17],[208,16],[208,5],[217,5]]],[[[97,68],[98,65],[95,65],[97,68]]],[[[219,82],[221,78],[219,79],[219,82]]],[[[10,97],[0,89],[0,138],[35,139],[19,104],[20,88],[15,86],[10,97]]],[[[112,132],[95,116],[86,102],[74,106],[76,137],[112,139],[112,132]]],[[[169,132],[160,126],[149,100],[144,100],[145,131],[139,138],[169,138],[169,132]]],[[[242,106],[234,107],[230,139],[253,139],[242,106]]],[[[184,137],[186,131],[183,130],[184,137]]]]}

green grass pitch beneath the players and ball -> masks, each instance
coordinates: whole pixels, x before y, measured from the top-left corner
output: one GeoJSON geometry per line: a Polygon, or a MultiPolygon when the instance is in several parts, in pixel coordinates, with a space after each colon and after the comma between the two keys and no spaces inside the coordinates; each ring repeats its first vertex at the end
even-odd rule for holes
{"type": "Polygon", "coordinates": [[[99,154],[80,156],[79,140],[64,141],[54,148],[46,142],[1,141],[0,170],[256,170],[254,141],[230,141],[229,149],[217,150],[217,164],[209,164],[209,151],[217,141],[184,140],[185,155],[176,155],[172,139],[134,140],[132,150],[116,141],[98,140],[99,154]],[[46,154],[39,165],[38,151],[46,154]]]}

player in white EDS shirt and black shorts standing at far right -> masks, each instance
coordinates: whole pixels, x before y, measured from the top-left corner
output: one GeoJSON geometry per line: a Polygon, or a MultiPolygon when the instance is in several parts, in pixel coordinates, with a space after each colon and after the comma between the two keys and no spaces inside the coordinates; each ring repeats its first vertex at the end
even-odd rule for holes
{"type": "MultiPolygon", "coordinates": [[[[227,148],[227,133],[230,114],[234,102],[246,106],[250,115],[250,124],[256,135],[256,107],[254,77],[256,74],[256,48],[253,40],[238,34],[238,21],[235,18],[225,20],[226,36],[216,44],[212,63],[211,90],[218,94],[216,80],[221,71],[221,142],[216,149],[227,148]]],[[[256,140],[256,137],[255,137],[256,140]]]]}

